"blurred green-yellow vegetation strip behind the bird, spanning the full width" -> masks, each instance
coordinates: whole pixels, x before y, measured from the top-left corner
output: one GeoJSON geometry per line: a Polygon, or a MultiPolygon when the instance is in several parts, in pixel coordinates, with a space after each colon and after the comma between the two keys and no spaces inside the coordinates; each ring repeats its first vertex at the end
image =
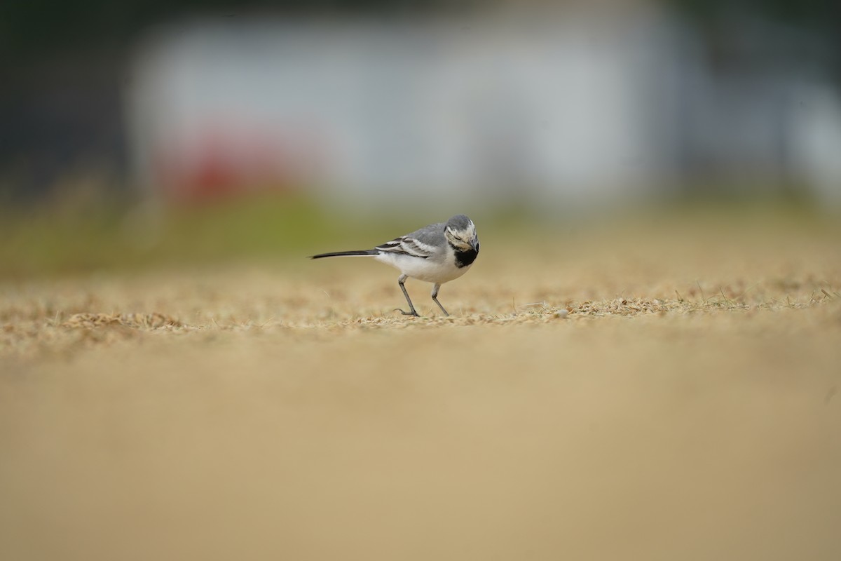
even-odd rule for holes
{"type": "Polygon", "coordinates": [[[341,208],[301,194],[262,193],[203,204],[128,203],[103,196],[64,197],[29,207],[0,206],[0,281],[107,270],[237,261],[301,265],[320,251],[368,248],[467,212],[484,246],[584,242],[594,233],[620,241],[629,231],[669,236],[683,227],[720,225],[763,231],[775,225],[832,227],[832,214],[795,199],[650,201],[607,210],[536,215],[511,206],[378,212],[341,208]]]}

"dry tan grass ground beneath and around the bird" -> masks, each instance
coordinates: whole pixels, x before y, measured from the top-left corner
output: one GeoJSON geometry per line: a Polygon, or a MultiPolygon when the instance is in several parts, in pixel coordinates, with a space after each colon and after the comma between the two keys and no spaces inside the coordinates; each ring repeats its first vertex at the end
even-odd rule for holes
{"type": "Polygon", "coordinates": [[[474,219],[450,318],[359,260],[3,283],[0,558],[841,558],[837,225],[474,219]]]}

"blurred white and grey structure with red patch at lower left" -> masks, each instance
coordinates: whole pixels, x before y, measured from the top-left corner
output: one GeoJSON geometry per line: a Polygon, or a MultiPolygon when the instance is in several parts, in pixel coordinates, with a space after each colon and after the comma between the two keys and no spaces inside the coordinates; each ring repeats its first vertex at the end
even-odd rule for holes
{"type": "Polygon", "coordinates": [[[841,202],[837,94],[722,82],[696,47],[649,10],[173,26],[137,50],[135,177],[176,198],[272,183],[362,204],[553,207],[700,173],[785,177],[841,202]]]}

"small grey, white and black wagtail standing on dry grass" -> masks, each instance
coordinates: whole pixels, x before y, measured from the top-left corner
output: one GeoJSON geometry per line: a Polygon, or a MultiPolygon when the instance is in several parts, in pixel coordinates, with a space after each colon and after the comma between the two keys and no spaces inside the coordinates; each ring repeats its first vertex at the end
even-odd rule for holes
{"type": "Polygon", "coordinates": [[[449,315],[438,301],[438,288],[441,288],[443,283],[467,273],[477,255],[479,237],[476,236],[473,220],[464,214],[456,214],[447,222],[424,226],[421,230],[386,241],[382,246],[373,249],[320,253],[311,258],[366,256],[399,269],[403,274],[397,279],[397,283],[406,297],[406,302],[409,303],[409,311],[398,310],[403,315],[418,316],[409,293],[406,292],[406,278],[417,278],[432,283],[432,299],[444,315],[449,315]]]}

